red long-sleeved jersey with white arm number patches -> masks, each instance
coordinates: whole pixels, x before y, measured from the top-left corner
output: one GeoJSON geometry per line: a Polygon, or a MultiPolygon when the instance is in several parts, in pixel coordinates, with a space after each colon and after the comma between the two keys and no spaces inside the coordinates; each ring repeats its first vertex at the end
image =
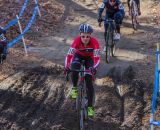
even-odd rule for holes
{"type": "Polygon", "coordinates": [[[74,39],[66,56],[65,67],[70,66],[74,54],[79,54],[84,57],[92,58],[94,61],[94,68],[96,68],[99,65],[100,62],[99,43],[93,37],[90,38],[90,41],[87,46],[84,46],[84,44],[81,42],[80,36],[74,39]],[[93,51],[90,52],[90,50],[93,51]]]}

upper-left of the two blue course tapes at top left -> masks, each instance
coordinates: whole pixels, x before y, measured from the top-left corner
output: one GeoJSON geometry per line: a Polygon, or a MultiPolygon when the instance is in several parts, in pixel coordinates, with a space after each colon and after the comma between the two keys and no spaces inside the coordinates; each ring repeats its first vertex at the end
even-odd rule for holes
{"type": "MultiPolygon", "coordinates": [[[[26,9],[26,7],[27,7],[27,4],[28,4],[28,0],[25,0],[23,6],[22,6],[22,8],[21,8],[21,11],[19,12],[19,15],[18,15],[19,18],[23,15],[23,13],[24,13],[24,11],[25,11],[25,9],[26,9]]],[[[8,25],[6,25],[6,26],[4,27],[4,29],[5,29],[5,30],[8,29],[9,27],[13,26],[13,25],[16,24],[17,22],[18,22],[18,19],[15,18],[15,19],[12,20],[8,25]]]]}

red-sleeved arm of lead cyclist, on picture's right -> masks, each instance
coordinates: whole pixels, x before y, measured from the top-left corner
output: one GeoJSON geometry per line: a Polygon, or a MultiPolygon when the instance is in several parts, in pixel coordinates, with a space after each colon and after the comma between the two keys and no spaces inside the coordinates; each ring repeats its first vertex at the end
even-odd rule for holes
{"type": "Polygon", "coordinates": [[[97,68],[99,63],[100,63],[100,49],[99,49],[99,43],[98,41],[95,39],[94,40],[94,68],[97,68]]]}

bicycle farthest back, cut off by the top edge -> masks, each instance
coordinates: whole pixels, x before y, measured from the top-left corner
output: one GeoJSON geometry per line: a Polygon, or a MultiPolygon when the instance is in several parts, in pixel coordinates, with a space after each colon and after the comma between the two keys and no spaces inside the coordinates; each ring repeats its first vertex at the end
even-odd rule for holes
{"type": "Polygon", "coordinates": [[[130,15],[131,15],[131,20],[132,20],[132,27],[134,30],[137,30],[138,7],[137,7],[135,0],[130,0],[129,6],[130,6],[130,15]]]}

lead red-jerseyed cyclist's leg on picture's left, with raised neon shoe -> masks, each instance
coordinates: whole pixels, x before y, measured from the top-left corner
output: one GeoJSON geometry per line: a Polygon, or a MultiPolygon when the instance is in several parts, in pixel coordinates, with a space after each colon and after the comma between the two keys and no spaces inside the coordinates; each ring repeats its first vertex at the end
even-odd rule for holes
{"type": "MultiPolygon", "coordinates": [[[[77,69],[79,70],[81,68],[81,59],[79,55],[75,55],[73,58],[73,61],[71,63],[71,69],[77,69]]],[[[71,79],[72,79],[72,91],[71,91],[71,98],[76,99],[77,98],[77,83],[78,83],[78,72],[72,72],[71,73],[71,79]]]]}

